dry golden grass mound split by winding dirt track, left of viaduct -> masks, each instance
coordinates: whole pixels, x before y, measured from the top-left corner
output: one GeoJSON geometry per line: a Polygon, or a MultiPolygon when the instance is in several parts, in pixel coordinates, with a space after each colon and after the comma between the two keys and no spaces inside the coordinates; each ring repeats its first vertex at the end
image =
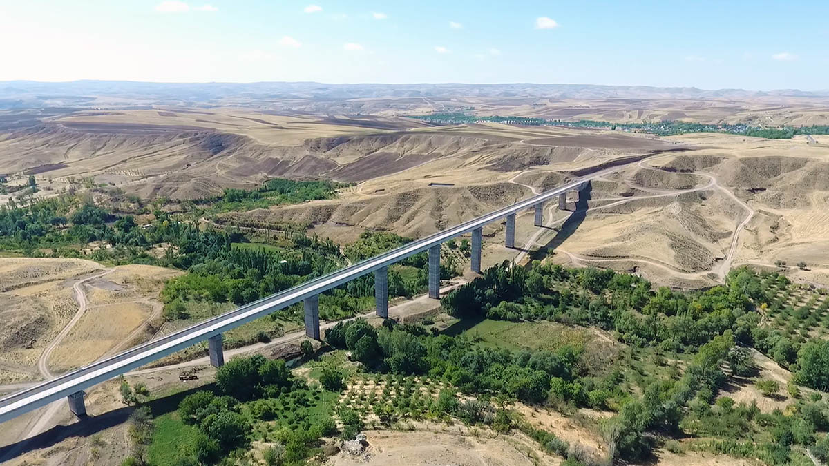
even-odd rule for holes
{"type": "MultiPolygon", "coordinates": [[[[0,382],[37,380],[37,359],[78,311],[77,280],[103,270],[90,260],[0,259],[0,382]]],[[[148,265],[123,265],[83,289],[89,308],[51,354],[65,371],[146,340],[144,324],[158,318],[158,291],[176,274],[148,265]]]]}

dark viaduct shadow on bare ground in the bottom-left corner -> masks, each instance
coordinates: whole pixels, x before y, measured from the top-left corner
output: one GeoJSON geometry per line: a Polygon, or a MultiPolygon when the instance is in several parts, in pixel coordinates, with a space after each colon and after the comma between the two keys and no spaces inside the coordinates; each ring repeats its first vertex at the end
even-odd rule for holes
{"type": "MultiPolygon", "coordinates": [[[[83,419],[70,425],[56,425],[50,430],[36,434],[28,439],[18,440],[13,444],[0,447],[0,459],[10,461],[17,457],[27,454],[36,449],[47,449],[56,444],[61,443],[65,439],[72,437],[89,437],[90,435],[98,434],[103,430],[107,430],[116,425],[121,425],[127,422],[129,415],[139,406],[148,406],[153,413],[153,417],[165,415],[174,410],[177,410],[178,404],[182,402],[185,396],[191,395],[196,391],[215,391],[216,385],[211,383],[205,386],[194,387],[186,391],[180,391],[170,396],[163,396],[155,400],[149,400],[136,406],[124,406],[117,410],[111,410],[101,415],[85,416],[83,419]],[[19,449],[19,451],[15,451],[19,449]],[[12,454],[9,458],[6,455],[12,454]]],[[[65,401],[64,401],[65,403],[65,401]]],[[[69,410],[69,406],[66,406],[69,410]]]]}

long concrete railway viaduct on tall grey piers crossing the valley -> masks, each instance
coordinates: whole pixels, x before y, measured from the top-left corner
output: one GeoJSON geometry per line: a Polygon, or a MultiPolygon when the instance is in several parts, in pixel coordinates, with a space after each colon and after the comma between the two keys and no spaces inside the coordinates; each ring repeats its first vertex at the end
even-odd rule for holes
{"type": "MultiPolygon", "coordinates": [[[[594,173],[592,177],[598,175],[599,173],[594,173]]],[[[70,411],[79,417],[83,417],[86,415],[85,389],[199,342],[207,341],[211,364],[221,366],[225,362],[222,351],[222,333],[300,301],[303,302],[305,310],[305,334],[319,340],[319,294],[365,274],[374,273],[376,314],[382,318],[388,318],[389,265],[424,250],[428,251],[429,254],[429,298],[439,299],[441,244],[459,235],[472,233],[472,269],[474,272],[480,273],[483,226],[506,218],[505,245],[507,248],[513,248],[515,247],[516,213],[526,209],[534,209],[535,225],[542,226],[545,202],[553,201],[558,197],[559,209],[565,210],[567,193],[579,192],[580,197],[581,192],[588,187],[589,180],[592,177],[579,178],[565,186],[542,192],[511,206],[464,222],[461,225],[439,231],[421,240],[412,241],[395,250],[376,255],[317,279],[309,280],[254,303],[245,304],[240,308],[197,323],[189,328],[184,328],[167,337],[143,343],[113,357],[99,360],[89,366],[58,376],[51,381],[45,381],[36,386],[12,393],[0,398],[0,422],[64,397],[69,401],[70,411]]]]}

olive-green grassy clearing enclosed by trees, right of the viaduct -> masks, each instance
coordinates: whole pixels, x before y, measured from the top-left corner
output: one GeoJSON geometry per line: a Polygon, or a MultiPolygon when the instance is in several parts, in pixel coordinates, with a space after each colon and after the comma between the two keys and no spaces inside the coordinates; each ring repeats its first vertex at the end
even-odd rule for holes
{"type": "Polygon", "coordinates": [[[485,347],[511,350],[555,350],[565,345],[582,348],[593,339],[593,335],[584,328],[572,328],[546,321],[518,323],[487,318],[471,327],[463,326],[463,323],[464,321],[456,323],[444,333],[452,336],[463,334],[478,340],[485,347]]]}

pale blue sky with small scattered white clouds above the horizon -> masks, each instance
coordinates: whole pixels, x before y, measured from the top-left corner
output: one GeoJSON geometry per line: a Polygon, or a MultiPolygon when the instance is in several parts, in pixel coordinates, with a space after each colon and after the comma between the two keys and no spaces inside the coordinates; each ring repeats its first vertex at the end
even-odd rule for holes
{"type": "Polygon", "coordinates": [[[829,89],[829,2],[0,0],[0,80],[829,89]]]}

